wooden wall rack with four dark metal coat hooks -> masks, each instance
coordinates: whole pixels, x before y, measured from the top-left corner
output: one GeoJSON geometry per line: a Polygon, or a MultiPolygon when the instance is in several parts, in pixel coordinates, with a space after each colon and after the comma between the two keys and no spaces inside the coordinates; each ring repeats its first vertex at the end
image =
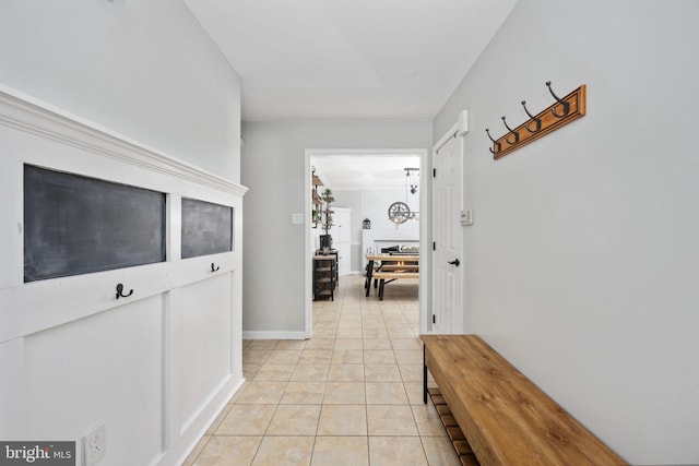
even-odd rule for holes
{"type": "Polygon", "coordinates": [[[495,160],[517,151],[523,145],[556,131],[561,127],[565,127],[578,118],[584,117],[587,111],[587,87],[584,84],[566,95],[564,98],[559,98],[554,93],[550,87],[550,81],[546,83],[546,86],[548,87],[552,96],[556,99],[555,104],[540,111],[537,115],[532,115],[526,108],[526,100],[522,100],[522,107],[526,116],[529,116],[529,120],[524,121],[517,128],[510,128],[506,118],[502,117],[502,123],[507,129],[507,133],[498,139],[493,139],[489,129],[485,130],[490,141],[493,141],[490,153],[495,160]]]}

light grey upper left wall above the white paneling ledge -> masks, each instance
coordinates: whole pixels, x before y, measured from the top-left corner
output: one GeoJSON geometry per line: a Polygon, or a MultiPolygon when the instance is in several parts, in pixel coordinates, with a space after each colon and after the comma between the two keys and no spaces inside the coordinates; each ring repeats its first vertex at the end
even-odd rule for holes
{"type": "Polygon", "coordinates": [[[3,0],[0,63],[7,86],[240,181],[240,79],[181,0],[3,0]]]}

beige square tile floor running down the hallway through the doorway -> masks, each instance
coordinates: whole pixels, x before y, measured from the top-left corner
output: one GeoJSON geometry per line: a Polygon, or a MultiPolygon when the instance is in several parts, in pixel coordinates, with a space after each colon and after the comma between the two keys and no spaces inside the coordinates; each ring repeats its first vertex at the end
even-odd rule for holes
{"type": "Polygon", "coordinates": [[[313,302],[313,338],[244,342],[245,385],[185,465],[447,465],[460,462],[423,404],[417,282],[342,277],[313,302]]]}

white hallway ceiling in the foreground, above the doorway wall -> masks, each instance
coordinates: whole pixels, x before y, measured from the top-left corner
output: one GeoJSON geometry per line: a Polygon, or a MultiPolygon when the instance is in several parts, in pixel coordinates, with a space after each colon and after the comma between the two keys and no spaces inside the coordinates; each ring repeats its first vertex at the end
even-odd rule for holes
{"type": "Polygon", "coordinates": [[[245,121],[431,120],[517,0],[185,0],[245,121]]]}

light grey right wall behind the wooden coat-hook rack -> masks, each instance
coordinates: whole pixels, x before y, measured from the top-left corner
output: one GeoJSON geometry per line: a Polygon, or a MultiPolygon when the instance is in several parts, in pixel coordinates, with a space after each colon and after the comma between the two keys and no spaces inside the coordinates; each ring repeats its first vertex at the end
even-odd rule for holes
{"type": "Polygon", "coordinates": [[[699,3],[520,0],[435,119],[464,140],[464,321],[632,464],[697,464],[699,3]],[[588,84],[588,115],[494,162],[588,84]]]}

